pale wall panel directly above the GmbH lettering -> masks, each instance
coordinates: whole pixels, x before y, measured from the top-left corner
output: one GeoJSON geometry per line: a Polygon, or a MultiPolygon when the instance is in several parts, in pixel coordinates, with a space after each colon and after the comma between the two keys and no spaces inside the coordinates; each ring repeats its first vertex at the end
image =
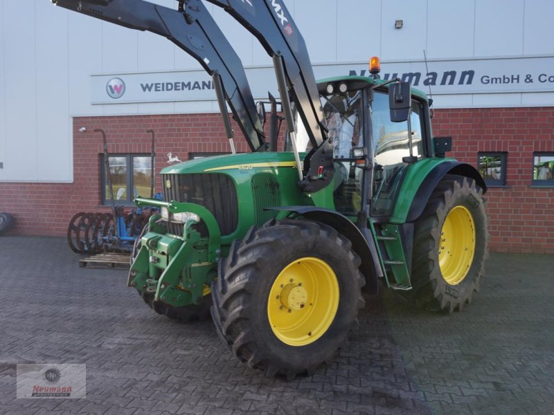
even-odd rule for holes
{"type": "Polygon", "coordinates": [[[475,4],[475,56],[521,55],[524,0],[478,0],[475,4]]]}

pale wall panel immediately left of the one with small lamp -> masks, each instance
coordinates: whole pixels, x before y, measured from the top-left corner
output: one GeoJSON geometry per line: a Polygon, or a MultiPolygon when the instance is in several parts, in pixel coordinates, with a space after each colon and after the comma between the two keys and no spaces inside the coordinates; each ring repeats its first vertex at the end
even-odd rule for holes
{"type": "Polygon", "coordinates": [[[337,62],[369,62],[374,55],[381,56],[381,1],[338,1],[337,62]]]}

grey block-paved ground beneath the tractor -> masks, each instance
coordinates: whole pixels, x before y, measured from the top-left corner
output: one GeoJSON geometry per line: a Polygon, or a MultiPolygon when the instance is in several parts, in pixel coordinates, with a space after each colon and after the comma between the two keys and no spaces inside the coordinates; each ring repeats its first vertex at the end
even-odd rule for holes
{"type": "Polygon", "coordinates": [[[0,414],[554,414],[554,257],[492,255],[474,304],[367,297],[310,378],[265,378],[211,322],[177,324],[63,239],[0,238],[0,414]],[[85,363],[87,398],[15,398],[16,363],[85,363]]]}

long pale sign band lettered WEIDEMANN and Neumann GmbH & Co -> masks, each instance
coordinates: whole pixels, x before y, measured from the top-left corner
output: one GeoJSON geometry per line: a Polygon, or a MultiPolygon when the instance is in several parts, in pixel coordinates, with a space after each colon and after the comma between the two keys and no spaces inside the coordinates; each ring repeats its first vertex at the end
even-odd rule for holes
{"type": "MultiPolygon", "coordinates": [[[[384,80],[399,77],[436,95],[554,91],[554,57],[383,62],[384,80]]],[[[245,69],[256,99],[278,95],[271,66],[245,69]],[[270,82],[268,82],[270,80],[270,82]]],[[[369,75],[366,62],[316,64],[316,78],[369,75]]],[[[202,70],[92,75],[92,104],[215,100],[211,77],[202,70]]]]}

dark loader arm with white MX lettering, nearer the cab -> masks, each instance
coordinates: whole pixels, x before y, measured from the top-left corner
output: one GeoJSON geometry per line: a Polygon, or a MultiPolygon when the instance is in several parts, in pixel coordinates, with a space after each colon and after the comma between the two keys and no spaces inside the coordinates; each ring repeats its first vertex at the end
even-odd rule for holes
{"type": "MultiPolygon", "coordinates": [[[[304,159],[303,179],[298,185],[305,192],[316,192],[331,183],[334,175],[332,142],[321,108],[319,91],[306,44],[283,0],[207,0],[224,8],[244,28],[247,28],[274,59],[279,84],[280,71],[286,78],[287,91],[280,91],[283,112],[287,117],[288,95],[306,127],[312,151],[304,159]]],[[[188,8],[199,0],[189,0],[188,8]]],[[[281,89],[281,86],[280,86],[281,89]]]]}

